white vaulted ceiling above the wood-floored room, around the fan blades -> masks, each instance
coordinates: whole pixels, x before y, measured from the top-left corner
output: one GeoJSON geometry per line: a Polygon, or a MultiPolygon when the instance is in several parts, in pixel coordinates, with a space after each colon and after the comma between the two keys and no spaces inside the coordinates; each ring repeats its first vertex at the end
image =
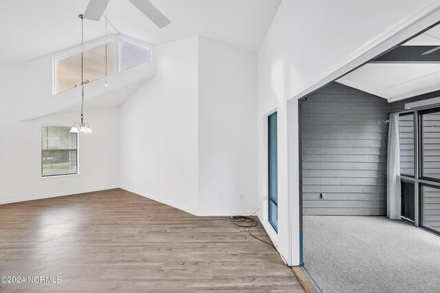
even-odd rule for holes
{"type": "MultiPolygon", "coordinates": [[[[78,14],[88,0],[1,0],[0,63],[25,62],[80,43],[78,14]]],[[[159,29],[128,0],[111,0],[118,32],[159,44],[205,36],[258,51],[281,0],[151,0],[171,24],[159,29]]],[[[85,20],[85,40],[104,36],[104,18],[85,20]]]]}

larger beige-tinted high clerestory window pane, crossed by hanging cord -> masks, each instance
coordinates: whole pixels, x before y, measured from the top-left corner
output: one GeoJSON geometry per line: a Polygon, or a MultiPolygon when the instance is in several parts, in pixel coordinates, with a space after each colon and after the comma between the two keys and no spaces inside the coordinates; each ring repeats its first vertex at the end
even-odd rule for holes
{"type": "MultiPolygon", "coordinates": [[[[115,43],[107,44],[107,75],[115,73],[115,43]]],[[[56,93],[81,85],[81,54],[55,61],[56,93]]],[[[105,77],[105,45],[84,51],[84,81],[105,77]]]]}

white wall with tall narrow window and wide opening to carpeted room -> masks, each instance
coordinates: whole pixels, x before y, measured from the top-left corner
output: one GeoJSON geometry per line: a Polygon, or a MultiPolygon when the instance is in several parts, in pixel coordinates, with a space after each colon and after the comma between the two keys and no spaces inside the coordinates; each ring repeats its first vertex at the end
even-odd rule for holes
{"type": "Polygon", "coordinates": [[[300,263],[298,104],[289,102],[287,108],[287,100],[318,89],[438,21],[438,15],[428,13],[438,5],[431,0],[283,0],[278,8],[258,55],[258,186],[265,207],[260,217],[290,264],[300,263]],[[265,204],[265,115],[273,110],[278,110],[278,234],[267,224],[265,204]]]}

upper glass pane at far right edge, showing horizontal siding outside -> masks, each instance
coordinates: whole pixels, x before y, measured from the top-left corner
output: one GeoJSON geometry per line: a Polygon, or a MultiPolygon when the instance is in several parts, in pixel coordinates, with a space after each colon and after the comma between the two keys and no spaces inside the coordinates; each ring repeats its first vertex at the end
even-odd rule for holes
{"type": "Polygon", "coordinates": [[[440,179],[440,110],[422,115],[423,176],[440,179]]]}

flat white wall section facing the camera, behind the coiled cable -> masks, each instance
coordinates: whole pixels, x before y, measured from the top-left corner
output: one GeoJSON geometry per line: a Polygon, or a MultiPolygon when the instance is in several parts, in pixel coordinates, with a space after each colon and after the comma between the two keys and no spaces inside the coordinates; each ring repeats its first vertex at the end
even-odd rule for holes
{"type": "Polygon", "coordinates": [[[199,37],[199,213],[258,208],[255,117],[256,54],[199,37]]]}

